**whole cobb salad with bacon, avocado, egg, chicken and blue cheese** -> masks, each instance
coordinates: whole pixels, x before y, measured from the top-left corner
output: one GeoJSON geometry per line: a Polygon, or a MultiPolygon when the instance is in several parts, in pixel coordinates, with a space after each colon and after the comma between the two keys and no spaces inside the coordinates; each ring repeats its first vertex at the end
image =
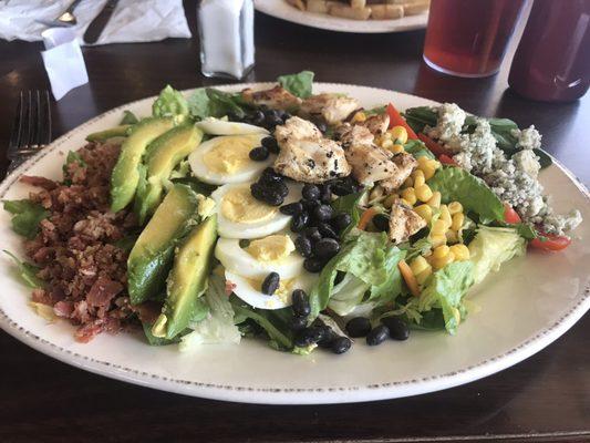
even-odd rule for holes
{"type": "Polygon", "coordinates": [[[49,321],[75,338],[142,327],[187,351],[257,337],[346,352],[456,333],[468,290],[527,246],[566,248],[531,126],[456,104],[363,109],[313,94],[313,73],[269,90],[166,86],[153,115],[87,135],[63,179],[4,200],[49,321]]]}

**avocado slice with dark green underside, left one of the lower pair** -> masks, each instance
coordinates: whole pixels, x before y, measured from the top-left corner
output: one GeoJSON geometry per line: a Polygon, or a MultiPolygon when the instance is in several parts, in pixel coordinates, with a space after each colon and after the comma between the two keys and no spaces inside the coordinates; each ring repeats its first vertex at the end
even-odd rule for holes
{"type": "Polygon", "coordinates": [[[166,288],[174,248],[197,220],[199,199],[186,185],[174,185],[133,246],[127,259],[132,305],[156,297],[166,288]]]}

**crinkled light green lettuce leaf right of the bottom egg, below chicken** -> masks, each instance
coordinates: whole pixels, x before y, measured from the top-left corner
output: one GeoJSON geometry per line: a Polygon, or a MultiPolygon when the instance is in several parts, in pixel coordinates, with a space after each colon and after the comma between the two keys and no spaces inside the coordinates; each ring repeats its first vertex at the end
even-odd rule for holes
{"type": "Polygon", "coordinates": [[[355,231],[342,244],[340,253],[320,274],[310,293],[311,319],[328,307],[338,271],[352,275],[369,285],[368,300],[375,305],[393,301],[401,292],[402,280],[397,262],[405,251],[393,246],[385,233],[355,231]]]}

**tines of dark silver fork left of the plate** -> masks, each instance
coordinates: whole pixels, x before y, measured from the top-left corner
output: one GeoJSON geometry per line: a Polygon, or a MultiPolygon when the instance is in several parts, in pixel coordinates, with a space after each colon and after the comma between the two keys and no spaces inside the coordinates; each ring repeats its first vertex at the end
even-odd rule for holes
{"type": "Polygon", "coordinates": [[[12,124],[7,158],[8,173],[51,142],[49,91],[21,91],[12,124]]]}

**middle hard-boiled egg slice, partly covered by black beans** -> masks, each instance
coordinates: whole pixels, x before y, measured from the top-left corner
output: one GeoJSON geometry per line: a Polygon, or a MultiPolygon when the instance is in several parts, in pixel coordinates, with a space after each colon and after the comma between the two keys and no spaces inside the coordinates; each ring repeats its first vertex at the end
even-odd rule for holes
{"type": "MultiPolygon", "coordinates": [[[[301,188],[292,183],[287,185],[289,195],[284,204],[298,202],[301,188]]],[[[227,238],[260,238],[284,229],[291,217],[257,200],[250,193],[250,183],[230,184],[218,187],[211,198],[217,204],[217,231],[227,238]]]]}

